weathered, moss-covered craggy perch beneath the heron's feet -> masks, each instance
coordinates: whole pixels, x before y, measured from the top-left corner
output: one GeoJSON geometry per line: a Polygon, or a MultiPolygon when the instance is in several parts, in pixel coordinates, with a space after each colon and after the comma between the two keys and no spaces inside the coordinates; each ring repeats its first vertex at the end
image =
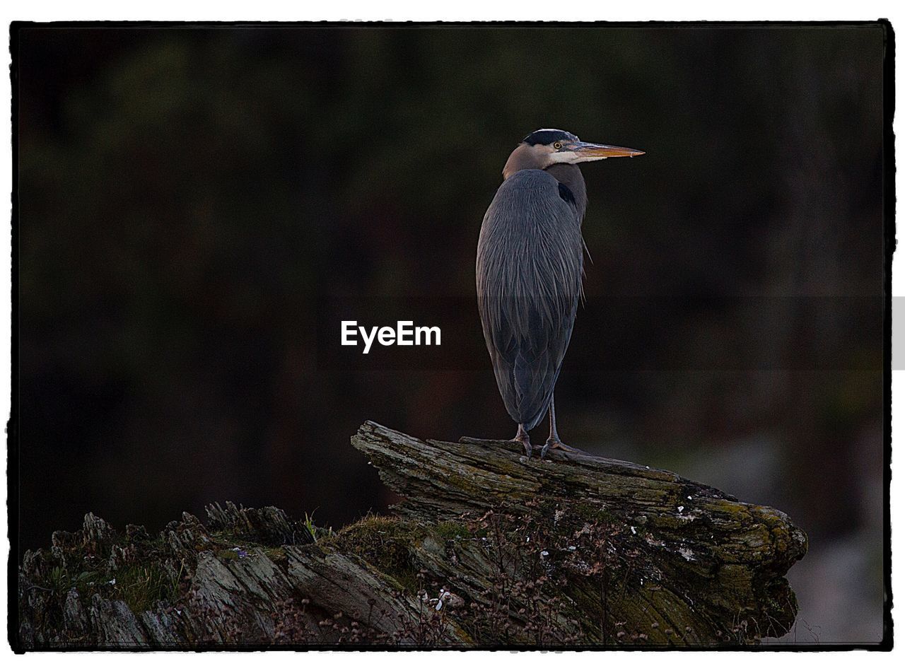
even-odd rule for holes
{"type": "Polygon", "coordinates": [[[157,538],[89,514],[19,571],[19,650],[713,645],[795,622],[805,534],[669,471],[367,422],[405,500],[338,532],[227,503],[157,538]]]}

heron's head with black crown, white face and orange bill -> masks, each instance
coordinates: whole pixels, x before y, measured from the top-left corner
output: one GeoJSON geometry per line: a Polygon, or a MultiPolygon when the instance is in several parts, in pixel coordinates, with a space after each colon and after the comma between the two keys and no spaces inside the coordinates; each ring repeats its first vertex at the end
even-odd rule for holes
{"type": "Polygon", "coordinates": [[[643,151],[634,148],[587,143],[562,129],[538,129],[523,138],[512,151],[503,168],[503,178],[522,169],[546,169],[556,164],[579,164],[607,157],[634,157],[643,154],[643,151]]]}

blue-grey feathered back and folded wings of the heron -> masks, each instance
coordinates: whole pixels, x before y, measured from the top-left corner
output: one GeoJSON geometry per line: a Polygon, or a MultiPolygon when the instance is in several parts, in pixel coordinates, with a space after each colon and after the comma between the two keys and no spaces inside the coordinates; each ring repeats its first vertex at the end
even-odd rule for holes
{"type": "Polygon", "coordinates": [[[530,429],[543,418],[581,292],[581,224],[557,180],[528,169],[493,198],[478,241],[478,307],[503,403],[530,429]]]}

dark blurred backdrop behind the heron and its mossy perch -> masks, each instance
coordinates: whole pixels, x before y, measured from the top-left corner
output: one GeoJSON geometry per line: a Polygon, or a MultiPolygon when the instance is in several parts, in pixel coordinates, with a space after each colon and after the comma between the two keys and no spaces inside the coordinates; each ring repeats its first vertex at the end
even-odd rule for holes
{"type": "Polygon", "coordinates": [[[21,28],[20,555],[88,511],[384,511],[366,419],[511,436],[475,245],[512,147],[565,128],[647,154],[583,169],[560,433],[786,511],[783,640],[879,641],[883,37],[21,28]],[[340,311],[443,346],[350,361],[340,311]]]}

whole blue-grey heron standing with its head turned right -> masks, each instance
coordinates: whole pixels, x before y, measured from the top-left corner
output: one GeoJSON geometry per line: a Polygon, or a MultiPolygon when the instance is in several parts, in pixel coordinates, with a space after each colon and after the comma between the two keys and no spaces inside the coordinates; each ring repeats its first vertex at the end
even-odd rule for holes
{"type": "Polygon", "coordinates": [[[538,129],[512,151],[484,215],[476,265],[481,326],[503,404],[519,424],[513,440],[529,457],[529,431],[547,414],[540,457],[551,448],[577,451],[559,439],[553,405],[582,293],[587,193],[577,165],[636,155],[643,152],[538,129]]]}

